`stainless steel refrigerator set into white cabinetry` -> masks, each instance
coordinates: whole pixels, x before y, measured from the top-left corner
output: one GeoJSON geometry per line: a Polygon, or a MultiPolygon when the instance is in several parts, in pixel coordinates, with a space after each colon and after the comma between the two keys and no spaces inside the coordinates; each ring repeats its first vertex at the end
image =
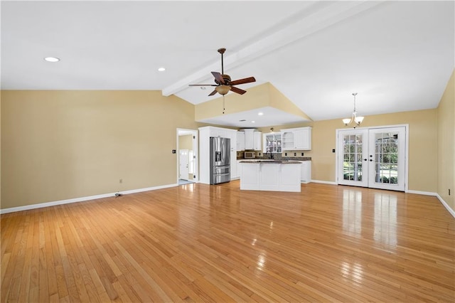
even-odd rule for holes
{"type": "Polygon", "coordinates": [[[230,139],[210,137],[210,184],[230,181],[230,139]]]}

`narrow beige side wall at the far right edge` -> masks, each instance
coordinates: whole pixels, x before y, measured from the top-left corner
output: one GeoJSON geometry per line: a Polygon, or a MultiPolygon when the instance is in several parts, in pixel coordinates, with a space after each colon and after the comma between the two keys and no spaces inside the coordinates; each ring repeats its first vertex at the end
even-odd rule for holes
{"type": "Polygon", "coordinates": [[[455,72],[439,102],[437,193],[455,211],[455,72]],[[449,196],[449,189],[451,194],[449,196]]]}

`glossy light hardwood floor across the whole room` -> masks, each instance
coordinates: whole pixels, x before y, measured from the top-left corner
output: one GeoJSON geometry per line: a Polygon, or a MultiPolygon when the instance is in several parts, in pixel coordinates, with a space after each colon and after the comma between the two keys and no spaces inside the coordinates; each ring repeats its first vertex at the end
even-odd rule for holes
{"type": "Polygon", "coordinates": [[[1,215],[1,302],[454,302],[437,198],[189,184],[1,215]]]}

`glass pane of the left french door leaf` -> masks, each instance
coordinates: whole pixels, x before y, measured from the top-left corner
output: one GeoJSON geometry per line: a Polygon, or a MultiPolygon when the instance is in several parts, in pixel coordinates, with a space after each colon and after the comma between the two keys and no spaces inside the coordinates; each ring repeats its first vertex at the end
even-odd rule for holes
{"type": "Polygon", "coordinates": [[[343,136],[343,179],[362,181],[362,135],[343,136]]]}

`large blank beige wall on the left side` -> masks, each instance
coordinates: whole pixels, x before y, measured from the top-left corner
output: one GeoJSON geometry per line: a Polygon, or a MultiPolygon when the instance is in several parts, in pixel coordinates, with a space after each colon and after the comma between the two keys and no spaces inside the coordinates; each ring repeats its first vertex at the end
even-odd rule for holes
{"type": "Polygon", "coordinates": [[[176,129],[197,127],[159,91],[2,91],[1,209],[175,184],[176,129]]]}

